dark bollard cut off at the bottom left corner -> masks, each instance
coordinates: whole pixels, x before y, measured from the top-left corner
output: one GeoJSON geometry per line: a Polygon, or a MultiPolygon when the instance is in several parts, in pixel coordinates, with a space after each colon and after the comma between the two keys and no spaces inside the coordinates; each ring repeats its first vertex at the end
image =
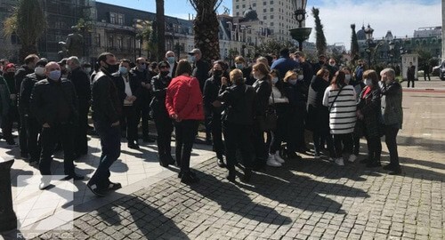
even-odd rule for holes
{"type": "Polygon", "coordinates": [[[12,207],[11,167],[14,159],[0,157],[0,232],[17,228],[17,216],[12,207]]]}

